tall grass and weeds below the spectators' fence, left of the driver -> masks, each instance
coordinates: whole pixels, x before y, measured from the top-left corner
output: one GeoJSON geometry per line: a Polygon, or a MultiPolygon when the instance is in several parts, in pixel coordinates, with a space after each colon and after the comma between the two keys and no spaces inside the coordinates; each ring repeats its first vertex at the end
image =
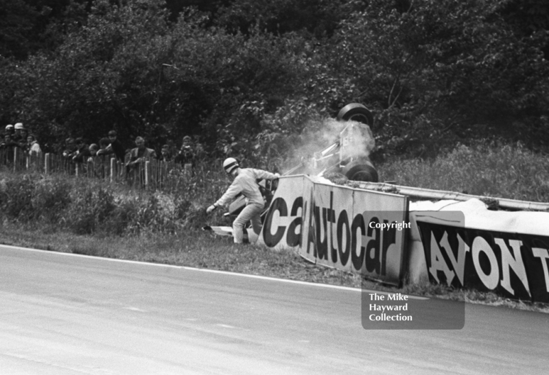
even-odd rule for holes
{"type": "Polygon", "coordinates": [[[224,222],[219,212],[205,214],[229,184],[222,171],[202,169],[195,176],[172,176],[172,182],[166,191],[147,191],[56,173],[3,173],[0,218],[74,234],[108,235],[176,233],[200,228],[208,220],[224,222]]]}

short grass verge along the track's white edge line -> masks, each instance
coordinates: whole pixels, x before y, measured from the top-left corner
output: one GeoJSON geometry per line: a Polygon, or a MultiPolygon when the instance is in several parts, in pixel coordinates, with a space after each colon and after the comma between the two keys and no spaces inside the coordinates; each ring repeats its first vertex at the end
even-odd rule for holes
{"type": "Polygon", "coordinates": [[[547,304],[509,300],[494,293],[454,290],[444,285],[408,284],[397,289],[364,280],[358,274],[314,265],[303,260],[292,250],[273,251],[259,245],[235,245],[229,237],[214,237],[201,230],[191,230],[185,234],[142,233],[131,237],[100,237],[57,231],[44,226],[33,228],[28,224],[21,226],[4,221],[0,228],[0,237],[4,245],[39,250],[216,269],[343,287],[362,287],[549,313],[547,304]]]}

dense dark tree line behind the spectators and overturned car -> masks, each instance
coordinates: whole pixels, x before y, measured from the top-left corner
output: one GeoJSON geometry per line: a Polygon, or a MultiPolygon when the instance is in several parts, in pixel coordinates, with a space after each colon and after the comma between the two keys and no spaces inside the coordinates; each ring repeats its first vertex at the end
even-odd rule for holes
{"type": "Polygon", "coordinates": [[[358,101],[379,153],[549,140],[541,0],[3,0],[0,119],[282,157],[358,101]]]}

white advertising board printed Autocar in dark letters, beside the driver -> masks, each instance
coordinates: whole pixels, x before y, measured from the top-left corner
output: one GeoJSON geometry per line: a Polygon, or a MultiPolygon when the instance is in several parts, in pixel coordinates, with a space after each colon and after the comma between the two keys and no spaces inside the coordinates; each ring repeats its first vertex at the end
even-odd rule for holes
{"type": "Polygon", "coordinates": [[[297,248],[318,264],[398,285],[407,212],[403,195],[288,176],[279,181],[259,243],[297,248]]]}

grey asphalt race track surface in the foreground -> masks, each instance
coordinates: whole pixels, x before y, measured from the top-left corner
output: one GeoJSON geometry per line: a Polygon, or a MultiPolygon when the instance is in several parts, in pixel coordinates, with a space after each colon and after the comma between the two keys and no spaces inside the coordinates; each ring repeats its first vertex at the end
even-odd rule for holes
{"type": "Polygon", "coordinates": [[[0,374],[549,371],[544,313],[465,304],[463,329],[365,330],[360,289],[2,245],[0,314],[0,374]]]}

